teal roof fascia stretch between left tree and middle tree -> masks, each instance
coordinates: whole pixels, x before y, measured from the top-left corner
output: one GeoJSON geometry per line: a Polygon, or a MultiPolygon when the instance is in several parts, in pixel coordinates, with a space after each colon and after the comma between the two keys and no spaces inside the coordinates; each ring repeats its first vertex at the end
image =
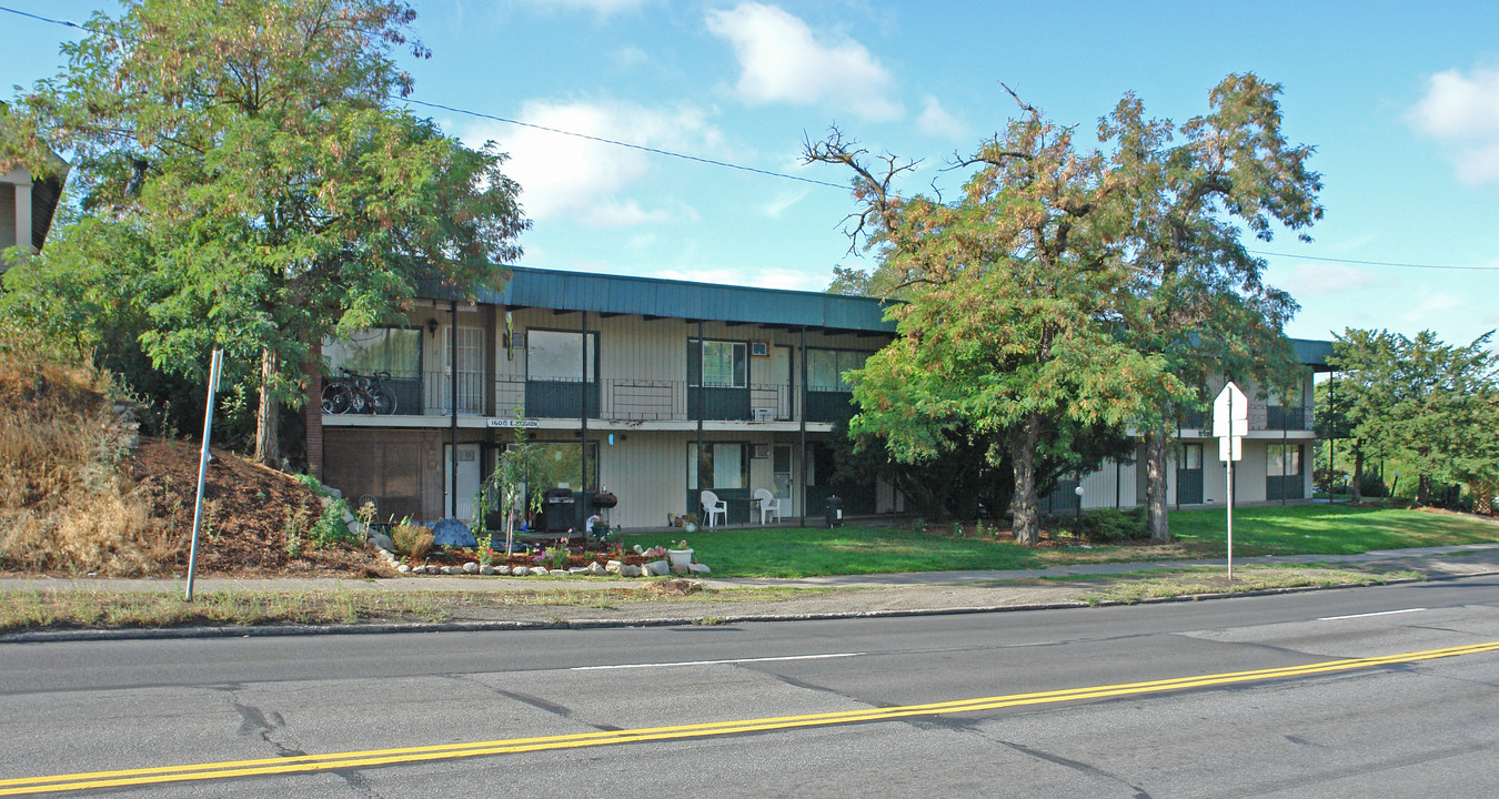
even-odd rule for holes
{"type": "MultiPolygon", "coordinates": [[[[555,310],[895,334],[895,322],[884,319],[884,304],[871,297],[529,267],[510,267],[510,271],[511,277],[502,288],[483,288],[474,298],[480,303],[555,310]]],[[[466,298],[436,280],[423,280],[417,295],[432,300],[466,298]]]]}

